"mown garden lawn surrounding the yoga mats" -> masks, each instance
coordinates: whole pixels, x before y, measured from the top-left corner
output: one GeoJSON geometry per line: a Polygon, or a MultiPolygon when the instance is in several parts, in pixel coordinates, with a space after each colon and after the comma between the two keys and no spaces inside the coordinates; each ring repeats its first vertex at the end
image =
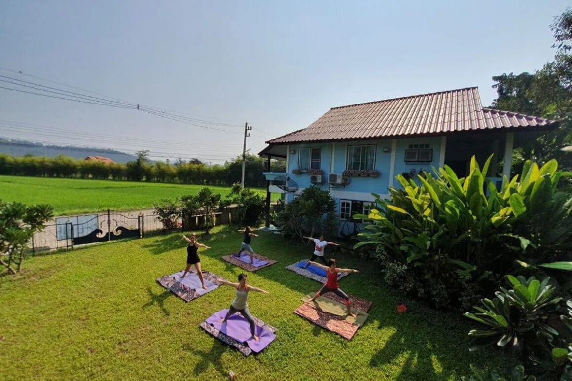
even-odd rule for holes
{"type": "MultiPolygon", "coordinates": [[[[233,280],[242,269],[221,256],[236,251],[240,233],[216,228],[202,267],[233,280]]],[[[407,302],[399,315],[395,291],[380,283],[375,264],[336,255],[339,265],[362,270],[341,288],[374,301],[370,318],[352,340],[294,315],[300,297],[319,283],[284,267],[308,257],[311,247],[286,244],[269,233],[255,237],[257,252],[279,261],[249,284],[253,315],[278,328],[261,354],[244,358],[198,324],[228,308],[234,290],[221,287],[185,303],[155,281],[183,268],[180,235],[100,244],[31,257],[25,270],[0,277],[0,353],[3,379],[378,379],[457,380],[469,364],[494,360],[471,354],[470,329],[458,313],[407,302]]]]}

